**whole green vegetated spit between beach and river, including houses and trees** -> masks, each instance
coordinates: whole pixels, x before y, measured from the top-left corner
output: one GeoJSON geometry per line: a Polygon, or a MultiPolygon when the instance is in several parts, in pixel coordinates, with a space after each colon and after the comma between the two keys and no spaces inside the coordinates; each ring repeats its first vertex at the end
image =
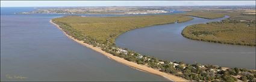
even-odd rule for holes
{"type": "MultiPolygon", "coordinates": [[[[185,22],[191,17],[184,15],[155,15],[155,16],[130,16],[130,17],[80,17],[67,16],[52,19],[64,32],[88,44],[100,47],[107,53],[122,57],[131,62],[146,65],[169,74],[177,75],[193,81],[256,81],[256,71],[239,68],[224,69],[217,65],[201,65],[199,63],[186,64],[171,62],[146,56],[119,48],[114,44],[114,39],[123,32],[145,26],[174,23],[176,20],[185,22]]],[[[199,32],[198,34],[211,34],[199,32]]],[[[196,35],[198,35],[196,34],[196,35]]]]}

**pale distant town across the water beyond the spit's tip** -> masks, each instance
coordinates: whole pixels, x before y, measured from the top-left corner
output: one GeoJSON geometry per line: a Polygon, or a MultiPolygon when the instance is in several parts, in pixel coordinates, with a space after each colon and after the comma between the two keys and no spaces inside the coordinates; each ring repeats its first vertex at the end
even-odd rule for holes
{"type": "Polygon", "coordinates": [[[55,7],[38,8],[20,14],[159,14],[172,13],[167,7],[55,7]]]}

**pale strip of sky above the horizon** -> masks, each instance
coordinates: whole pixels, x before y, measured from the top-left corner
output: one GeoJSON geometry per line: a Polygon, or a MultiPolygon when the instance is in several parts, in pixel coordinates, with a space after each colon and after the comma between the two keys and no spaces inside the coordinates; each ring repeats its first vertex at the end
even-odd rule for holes
{"type": "Polygon", "coordinates": [[[255,5],[255,1],[1,1],[1,7],[255,5]]]}

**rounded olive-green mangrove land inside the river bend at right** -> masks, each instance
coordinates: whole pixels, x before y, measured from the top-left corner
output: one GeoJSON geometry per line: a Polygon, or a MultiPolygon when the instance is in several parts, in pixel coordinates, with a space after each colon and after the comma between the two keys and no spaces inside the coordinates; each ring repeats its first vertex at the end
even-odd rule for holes
{"type": "Polygon", "coordinates": [[[187,26],[182,34],[193,40],[255,46],[255,30],[255,21],[223,20],[187,26]]]}

